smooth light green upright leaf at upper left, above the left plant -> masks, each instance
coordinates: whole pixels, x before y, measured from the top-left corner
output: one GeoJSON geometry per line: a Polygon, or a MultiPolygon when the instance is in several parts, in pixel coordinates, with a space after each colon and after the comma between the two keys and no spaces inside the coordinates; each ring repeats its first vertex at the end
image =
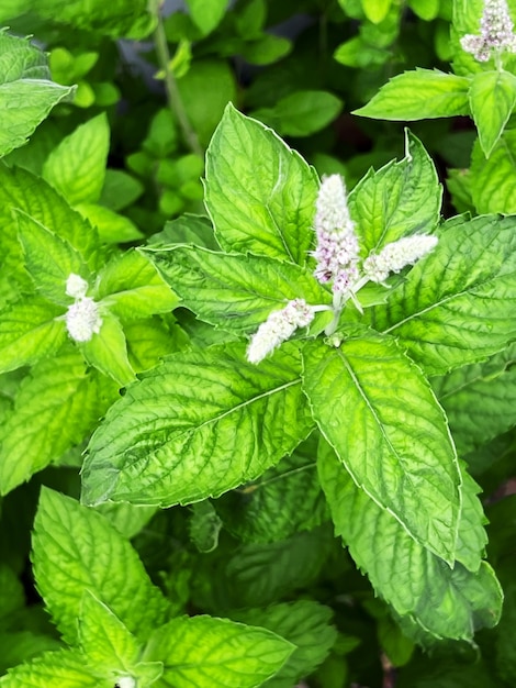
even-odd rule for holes
{"type": "Polygon", "coordinates": [[[105,112],[78,126],[54,148],[43,166],[43,178],[70,206],[100,199],[110,148],[105,112]]]}

